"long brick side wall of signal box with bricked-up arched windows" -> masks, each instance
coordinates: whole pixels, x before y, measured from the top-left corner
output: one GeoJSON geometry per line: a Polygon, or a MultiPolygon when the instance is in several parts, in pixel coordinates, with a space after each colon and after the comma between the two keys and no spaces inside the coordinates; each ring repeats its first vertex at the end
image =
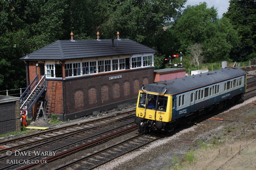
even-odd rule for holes
{"type": "MultiPolygon", "coordinates": [[[[137,98],[138,90],[143,84],[147,85],[154,82],[153,70],[154,68],[150,67],[64,80],[65,115],[77,113],[75,114],[76,117],[70,117],[70,119],[76,119],[91,115],[92,110],[87,112],[88,109],[103,105],[107,109],[108,105],[112,103],[137,98]],[[109,80],[110,77],[120,75],[122,75],[122,78],[109,80]]],[[[56,96],[56,98],[58,97],[56,96]]],[[[136,99],[134,100],[136,101],[136,99]]],[[[57,111],[56,108],[55,110],[57,111]]],[[[60,112],[55,113],[59,114],[60,112]]]]}

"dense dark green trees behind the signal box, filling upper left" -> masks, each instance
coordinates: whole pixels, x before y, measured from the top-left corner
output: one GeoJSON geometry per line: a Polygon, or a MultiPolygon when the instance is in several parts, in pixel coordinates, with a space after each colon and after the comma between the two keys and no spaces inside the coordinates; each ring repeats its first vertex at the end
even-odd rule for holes
{"type": "MultiPolygon", "coordinates": [[[[70,39],[129,38],[148,47],[161,42],[165,21],[175,18],[186,0],[0,0],[0,91],[26,87],[27,53],[70,39]]],[[[163,44],[163,43],[162,43],[163,44]]],[[[156,56],[162,67],[163,54],[156,56]]]]}

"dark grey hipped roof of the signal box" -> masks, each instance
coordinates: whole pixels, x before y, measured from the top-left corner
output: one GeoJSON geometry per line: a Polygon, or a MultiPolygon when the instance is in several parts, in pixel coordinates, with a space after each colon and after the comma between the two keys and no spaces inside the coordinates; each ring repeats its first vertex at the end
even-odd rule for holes
{"type": "Polygon", "coordinates": [[[72,60],[92,57],[106,57],[116,55],[133,55],[143,53],[156,53],[129,39],[114,40],[60,40],[53,42],[35,52],[20,58],[20,60],[72,60]]]}

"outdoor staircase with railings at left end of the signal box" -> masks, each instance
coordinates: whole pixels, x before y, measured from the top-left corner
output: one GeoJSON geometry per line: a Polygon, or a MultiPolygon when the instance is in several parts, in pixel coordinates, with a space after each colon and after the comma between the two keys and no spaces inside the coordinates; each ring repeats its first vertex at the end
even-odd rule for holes
{"type": "Polygon", "coordinates": [[[38,82],[38,75],[34,78],[34,80],[30,83],[27,87],[25,92],[20,96],[20,109],[27,105],[27,112],[32,109],[36,101],[42,95],[44,90],[46,89],[46,81],[45,75],[42,79],[38,82]]]}

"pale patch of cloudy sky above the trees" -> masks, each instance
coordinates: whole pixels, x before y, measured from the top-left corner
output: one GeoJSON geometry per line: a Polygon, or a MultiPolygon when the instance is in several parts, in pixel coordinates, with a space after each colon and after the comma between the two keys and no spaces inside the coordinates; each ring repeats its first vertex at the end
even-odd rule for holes
{"type": "Polygon", "coordinates": [[[208,8],[211,8],[212,6],[214,6],[214,8],[217,8],[219,13],[219,18],[222,18],[222,14],[228,11],[228,7],[229,7],[228,1],[229,0],[188,0],[185,4],[185,7],[187,5],[196,5],[196,4],[199,4],[200,2],[206,2],[208,8]]]}

